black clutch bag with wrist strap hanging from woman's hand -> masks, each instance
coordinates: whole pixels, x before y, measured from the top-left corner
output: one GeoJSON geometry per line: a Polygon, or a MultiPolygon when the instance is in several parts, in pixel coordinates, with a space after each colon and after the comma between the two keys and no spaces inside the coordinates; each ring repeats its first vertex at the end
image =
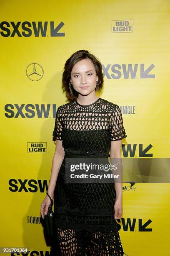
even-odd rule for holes
{"type": "MultiPolygon", "coordinates": [[[[50,197],[50,195],[48,195],[48,193],[47,193],[47,196],[50,197]]],[[[45,233],[47,234],[47,236],[52,236],[52,234],[53,234],[54,212],[52,211],[53,200],[51,199],[51,197],[50,197],[50,200],[51,200],[51,204],[48,207],[47,214],[44,215],[44,230],[45,230],[45,233]]]]}

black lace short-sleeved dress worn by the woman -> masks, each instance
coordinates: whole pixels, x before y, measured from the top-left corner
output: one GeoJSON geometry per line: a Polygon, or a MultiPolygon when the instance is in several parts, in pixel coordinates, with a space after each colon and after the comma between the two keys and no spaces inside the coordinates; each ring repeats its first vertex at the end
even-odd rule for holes
{"type": "Polygon", "coordinates": [[[125,137],[122,113],[112,102],[98,98],[80,105],[74,100],[58,107],[53,140],[62,140],[65,157],[54,192],[51,256],[124,255],[114,218],[114,184],[66,183],[65,159],[108,159],[111,141],[125,137]]]}

